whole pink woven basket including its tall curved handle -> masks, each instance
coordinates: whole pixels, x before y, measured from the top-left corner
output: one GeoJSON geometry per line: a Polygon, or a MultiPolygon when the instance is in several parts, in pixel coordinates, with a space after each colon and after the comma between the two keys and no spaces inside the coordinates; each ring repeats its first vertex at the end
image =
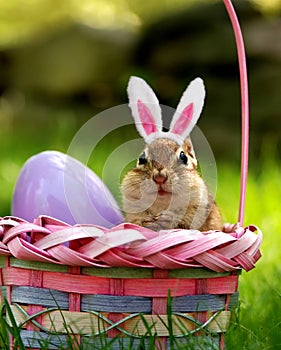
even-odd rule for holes
{"type": "Polygon", "coordinates": [[[255,226],[243,227],[246,60],[231,1],[224,4],[238,48],[242,97],[238,224],[223,232],[154,232],[131,224],[71,227],[44,216],[33,223],[1,219],[2,301],[26,347],[224,348],[223,335],[238,305],[239,274],[255,266],[262,240],[255,226]]]}

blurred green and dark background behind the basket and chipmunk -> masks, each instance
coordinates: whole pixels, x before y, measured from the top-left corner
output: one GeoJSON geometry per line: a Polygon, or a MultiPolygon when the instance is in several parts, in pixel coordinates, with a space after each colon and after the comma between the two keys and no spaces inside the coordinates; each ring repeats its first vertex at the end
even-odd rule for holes
{"type": "MultiPolygon", "coordinates": [[[[258,268],[242,275],[240,324],[228,342],[230,349],[279,349],[281,1],[234,5],[250,87],[245,222],[260,226],[264,243],[258,268]]],[[[0,0],[0,216],[10,213],[24,162],[47,149],[66,152],[87,120],[126,103],[130,75],[145,78],[161,103],[172,107],[187,83],[201,76],[207,100],[199,127],[217,161],[217,201],[224,219],[235,222],[240,161],[236,57],[222,0],[0,0]]],[[[130,138],[132,132],[114,139],[130,138]]],[[[91,161],[98,174],[112,147],[100,147],[100,156],[91,161]]]]}

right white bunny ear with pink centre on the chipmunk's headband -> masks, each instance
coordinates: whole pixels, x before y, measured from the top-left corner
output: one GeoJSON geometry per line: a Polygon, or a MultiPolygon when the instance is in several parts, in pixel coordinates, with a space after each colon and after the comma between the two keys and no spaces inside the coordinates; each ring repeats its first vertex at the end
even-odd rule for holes
{"type": "Polygon", "coordinates": [[[204,105],[205,88],[201,78],[194,79],[184,91],[173,116],[169,133],[184,141],[197,123],[204,105]]]}

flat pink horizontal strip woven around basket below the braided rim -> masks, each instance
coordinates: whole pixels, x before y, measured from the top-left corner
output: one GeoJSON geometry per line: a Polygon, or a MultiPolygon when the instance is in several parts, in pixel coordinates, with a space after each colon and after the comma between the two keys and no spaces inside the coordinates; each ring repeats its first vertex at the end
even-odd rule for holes
{"type": "MultiPolygon", "coordinates": [[[[23,268],[3,268],[3,285],[30,286],[32,270],[23,268]]],[[[206,292],[209,294],[229,294],[237,291],[238,276],[209,278],[206,292]]],[[[106,277],[74,275],[67,273],[42,271],[42,288],[80,294],[115,295],[112,279],[106,277]]],[[[118,286],[120,288],[120,286],[118,286]]],[[[167,297],[195,295],[196,279],[191,278],[125,278],[122,281],[122,293],[131,296],[167,297]]]]}

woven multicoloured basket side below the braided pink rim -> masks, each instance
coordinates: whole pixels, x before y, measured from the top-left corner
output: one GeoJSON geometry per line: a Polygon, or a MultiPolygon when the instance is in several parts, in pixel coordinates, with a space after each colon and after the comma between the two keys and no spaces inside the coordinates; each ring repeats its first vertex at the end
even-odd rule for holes
{"type": "Polygon", "coordinates": [[[97,342],[97,335],[109,341],[119,334],[137,346],[147,327],[169,348],[170,293],[173,335],[182,342],[208,341],[218,349],[238,304],[239,271],[88,267],[71,271],[64,265],[2,260],[3,296],[22,325],[25,345],[32,348],[38,346],[36,339],[62,341],[67,329],[82,344],[97,342]],[[54,331],[59,335],[52,335],[54,331]],[[201,337],[195,341],[198,332],[201,337]]]}

